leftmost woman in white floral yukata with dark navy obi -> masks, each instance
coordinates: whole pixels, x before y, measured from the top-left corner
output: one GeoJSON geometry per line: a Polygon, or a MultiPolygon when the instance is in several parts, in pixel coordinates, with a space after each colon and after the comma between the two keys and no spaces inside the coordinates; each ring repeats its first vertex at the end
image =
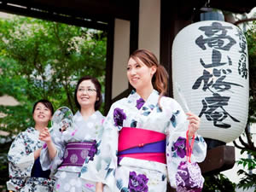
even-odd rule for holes
{"type": "Polygon", "coordinates": [[[9,148],[9,181],[7,188],[20,192],[50,192],[54,180],[49,179],[50,171],[43,171],[40,165],[40,151],[43,144],[39,132],[48,129],[47,125],[54,113],[52,104],[39,100],[32,109],[35,127],[20,132],[9,148]]]}

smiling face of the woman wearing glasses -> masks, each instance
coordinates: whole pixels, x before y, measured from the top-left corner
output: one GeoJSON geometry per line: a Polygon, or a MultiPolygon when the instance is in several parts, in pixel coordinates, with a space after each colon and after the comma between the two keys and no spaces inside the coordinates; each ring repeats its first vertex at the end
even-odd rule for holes
{"type": "Polygon", "coordinates": [[[79,84],[77,100],[81,108],[95,108],[96,87],[91,80],[84,80],[79,84]]]}

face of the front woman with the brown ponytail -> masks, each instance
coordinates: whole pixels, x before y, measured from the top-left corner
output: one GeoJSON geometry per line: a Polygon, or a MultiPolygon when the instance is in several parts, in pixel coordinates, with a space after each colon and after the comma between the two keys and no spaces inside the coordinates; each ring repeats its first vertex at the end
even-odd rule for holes
{"type": "Polygon", "coordinates": [[[142,90],[152,85],[152,77],[156,67],[148,67],[143,61],[130,58],[127,64],[127,78],[136,90],[142,90]]]}

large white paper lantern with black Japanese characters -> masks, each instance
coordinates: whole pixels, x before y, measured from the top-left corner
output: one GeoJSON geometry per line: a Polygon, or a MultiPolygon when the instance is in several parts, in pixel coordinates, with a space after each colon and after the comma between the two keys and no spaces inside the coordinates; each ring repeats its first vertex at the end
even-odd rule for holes
{"type": "Polygon", "coordinates": [[[241,30],[224,21],[186,26],[172,45],[174,98],[201,117],[199,134],[230,143],[241,135],[248,113],[247,41],[241,30]]]}

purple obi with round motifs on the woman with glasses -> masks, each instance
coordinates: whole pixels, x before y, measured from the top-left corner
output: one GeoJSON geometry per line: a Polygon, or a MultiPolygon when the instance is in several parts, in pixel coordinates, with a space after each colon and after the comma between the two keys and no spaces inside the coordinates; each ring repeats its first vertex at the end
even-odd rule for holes
{"type": "Polygon", "coordinates": [[[84,160],[93,160],[97,153],[96,140],[93,142],[67,143],[61,166],[83,166],[84,160]]]}

